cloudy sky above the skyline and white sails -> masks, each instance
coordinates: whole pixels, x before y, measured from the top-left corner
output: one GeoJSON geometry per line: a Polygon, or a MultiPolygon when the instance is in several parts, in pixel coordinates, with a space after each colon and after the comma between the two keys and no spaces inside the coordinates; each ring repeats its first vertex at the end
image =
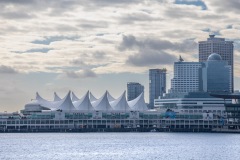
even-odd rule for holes
{"type": "Polygon", "coordinates": [[[179,55],[198,61],[210,33],[234,41],[240,89],[239,0],[0,0],[0,112],[19,111],[39,92],[52,100],[106,90],[117,98],[127,82],[145,86],[148,69],[179,55]]]}

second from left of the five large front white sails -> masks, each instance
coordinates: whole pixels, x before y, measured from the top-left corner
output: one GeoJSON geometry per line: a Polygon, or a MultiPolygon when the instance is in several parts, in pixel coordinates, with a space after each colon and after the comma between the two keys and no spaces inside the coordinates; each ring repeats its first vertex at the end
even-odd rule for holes
{"type": "Polygon", "coordinates": [[[78,101],[74,101],[73,105],[77,110],[81,110],[81,111],[94,110],[89,99],[89,91],[81,99],[79,99],[78,101]]]}

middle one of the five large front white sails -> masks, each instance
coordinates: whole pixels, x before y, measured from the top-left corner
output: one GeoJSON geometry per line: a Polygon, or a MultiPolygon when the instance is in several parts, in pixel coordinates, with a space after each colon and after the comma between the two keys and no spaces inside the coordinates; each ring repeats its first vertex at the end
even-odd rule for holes
{"type": "Polygon", "coordinates": [[[92,105],[95,108],[95,110],[98,110],[98,111],[113,110],[111,105],[109,104],[109,101],[108,101],[108,98],[107,98],[107,92],[105,92],[104,95],[101,98],[92,102],[92,105]]]}

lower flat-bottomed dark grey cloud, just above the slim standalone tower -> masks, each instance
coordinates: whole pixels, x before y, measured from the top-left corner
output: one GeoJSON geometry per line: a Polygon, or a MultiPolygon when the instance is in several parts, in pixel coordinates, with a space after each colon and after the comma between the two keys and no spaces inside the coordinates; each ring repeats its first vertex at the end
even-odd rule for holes
{"type": "Polygon", "coordinates": [[[126,63],[134,66],[153,66],[173,64],[176,57],[164,51],[144,49],[128,57],[126,63]]]}

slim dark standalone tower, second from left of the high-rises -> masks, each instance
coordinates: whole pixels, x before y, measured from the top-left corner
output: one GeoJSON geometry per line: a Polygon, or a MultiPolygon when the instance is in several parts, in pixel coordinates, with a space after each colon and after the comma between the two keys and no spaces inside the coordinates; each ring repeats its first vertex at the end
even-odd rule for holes
{"type": "Polygon", "coordinates": [[[166,72],[163,69],[149,69],[149,107],[154,107],[154,99],[166,93],[166,72]]]}

